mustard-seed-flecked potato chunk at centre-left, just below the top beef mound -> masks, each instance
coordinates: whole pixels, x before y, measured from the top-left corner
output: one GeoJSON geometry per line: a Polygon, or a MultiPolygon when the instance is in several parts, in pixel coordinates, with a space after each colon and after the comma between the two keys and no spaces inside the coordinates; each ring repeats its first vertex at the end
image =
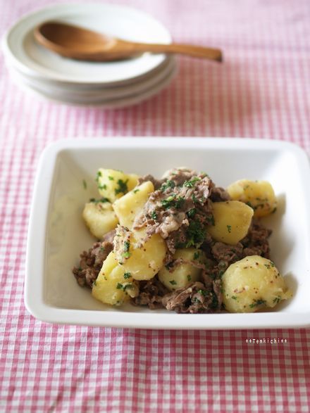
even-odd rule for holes
{"type": "Polygon", "coordinates": [[[159,234],[147,238],[144,229],[122,231],[122,227],[118,227],[115,240],[118,262],[132,278],[151,279],[163,266],[167,246],[159,234]]]}

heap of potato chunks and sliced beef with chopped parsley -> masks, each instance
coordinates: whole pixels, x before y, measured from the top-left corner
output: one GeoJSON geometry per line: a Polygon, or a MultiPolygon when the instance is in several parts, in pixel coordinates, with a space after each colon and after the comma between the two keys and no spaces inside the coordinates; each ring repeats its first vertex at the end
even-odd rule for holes
{"type": "Polygon", "coordinates": [[[180,313],[255,312],[292,296],[271,261],[261,217],[273,187],[242,179],[223,189],[186,167],[161,179],[99,169],[82,218],[96,242],[73,274],[102,303],[180,313]]]}

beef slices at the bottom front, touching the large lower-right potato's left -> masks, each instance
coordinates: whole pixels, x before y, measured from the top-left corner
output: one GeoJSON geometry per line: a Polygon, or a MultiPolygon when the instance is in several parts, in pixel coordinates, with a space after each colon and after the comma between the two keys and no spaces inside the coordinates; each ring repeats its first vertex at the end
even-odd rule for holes
{"type": "MultiPolygon", "coordinates": [[[[218,290],[218,281],[216,283],[218,290]]],[[[174,310],[182,313],[216,312],[220,309],[221,303],[218,301],[217,293],[209,290],[197,281],[189,284],[185,288],[167,294],[162,299],[163,306],[167,310],[174,310]]]]}

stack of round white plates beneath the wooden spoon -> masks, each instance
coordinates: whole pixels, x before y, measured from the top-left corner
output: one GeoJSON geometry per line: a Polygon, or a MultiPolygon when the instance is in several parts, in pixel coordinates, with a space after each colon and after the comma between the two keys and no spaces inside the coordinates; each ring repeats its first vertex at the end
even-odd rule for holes
{"type": "Polygon", "coordinates": [[[57,20],[135,42],[171,43],[166,27],[150,15],[112,4],[58,4],[26,15],[3,39],[13,80],[45,98],[106,108],[130,106],[159,93],[173,79],[173,56],[143,53],[124,61],[93,63],[63,58],[37,44],[34,28],[57,20]]]}

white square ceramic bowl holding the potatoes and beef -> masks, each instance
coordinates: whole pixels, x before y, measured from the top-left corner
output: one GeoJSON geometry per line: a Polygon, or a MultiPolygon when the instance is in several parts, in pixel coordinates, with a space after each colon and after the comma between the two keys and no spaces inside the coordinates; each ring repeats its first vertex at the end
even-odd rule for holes
{"type": "Polygon", "coordinates": [[[301,148],[282,141],[231,138],[66,139],[45,149],[37,171],[27,243],[25,305],[44,322],[143,329],[259,329],[310,325],[310,169],[301,148]],[[278,195],[271,256],[294,296],[252,314],[176,314],[92,298],[72,274],[94,239],[82,222],[97,197],[99,167],[161,177],[171,167],[204,170],[218,186],[266,179],[278,195]],[[85,185],[85,182],[87,185],[85,185]]]}

